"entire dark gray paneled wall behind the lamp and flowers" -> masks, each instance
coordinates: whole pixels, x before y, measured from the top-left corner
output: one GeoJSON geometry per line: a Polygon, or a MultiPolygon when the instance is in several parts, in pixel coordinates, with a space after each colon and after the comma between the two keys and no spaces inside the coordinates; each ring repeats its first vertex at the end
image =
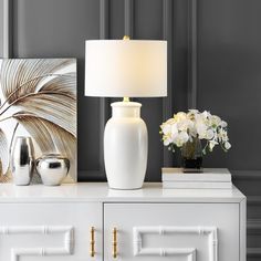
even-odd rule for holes
{"type": "Polygon", "coordinates": [[[255,261],[261,258],[260,13],[260,0],[13,0],[12,56],[77,58],[79,179],[104,180],[102,137],[113,100],[83,95],[84,40],[124,34],[168,40],[169,95],[140,100],[149,130],[146,179],[160,180],[161,166],[179,165],[158,135],[174,112],[198,107],[227,119],[232,149],[216,149],[205,166],[228,167],[248,196],[248,253],[255,261]]]}

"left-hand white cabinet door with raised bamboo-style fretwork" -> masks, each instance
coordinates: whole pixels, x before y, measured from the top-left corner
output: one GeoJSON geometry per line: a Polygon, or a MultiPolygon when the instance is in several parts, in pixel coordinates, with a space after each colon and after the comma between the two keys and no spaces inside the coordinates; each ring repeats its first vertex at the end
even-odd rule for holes
{"type": "MultiPolygon", "coordinates": [[[[0,205],[0,260],[87,261],[90,229],[102,246],[102,205],[82,202],[0,205]]],[[[96,259],[102,260],[101,248],[96,259]]]]}

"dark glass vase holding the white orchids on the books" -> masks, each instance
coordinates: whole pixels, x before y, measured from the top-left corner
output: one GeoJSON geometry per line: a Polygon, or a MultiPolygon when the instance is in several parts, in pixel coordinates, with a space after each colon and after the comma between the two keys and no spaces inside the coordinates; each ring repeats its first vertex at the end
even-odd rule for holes
{"type": "Polygon", "coordinates": [[[199,138],[195,137],[181,147],[181,164],[184,173],[202,171],[202,146],[199,138]]]}

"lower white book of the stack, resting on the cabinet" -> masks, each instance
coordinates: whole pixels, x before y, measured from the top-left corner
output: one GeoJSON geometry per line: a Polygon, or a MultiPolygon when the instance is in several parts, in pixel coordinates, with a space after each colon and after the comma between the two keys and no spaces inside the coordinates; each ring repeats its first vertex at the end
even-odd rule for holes
{"type": "Polygon", "coordinates": [[[231,189],[232,182],[164,181],[163,188],[182,189],[231,189]]]}

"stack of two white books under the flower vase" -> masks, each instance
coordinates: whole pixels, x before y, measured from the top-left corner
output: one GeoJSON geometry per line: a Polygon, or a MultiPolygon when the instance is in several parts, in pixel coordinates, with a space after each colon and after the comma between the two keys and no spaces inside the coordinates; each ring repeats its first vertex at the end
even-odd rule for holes
{"type": "Polygon", "coordinates": [[[203,168],[202,173],[182,173],[181,168],[163,168],[164,188],[231,189],[231,174],[227,168],[203,168]]]}

